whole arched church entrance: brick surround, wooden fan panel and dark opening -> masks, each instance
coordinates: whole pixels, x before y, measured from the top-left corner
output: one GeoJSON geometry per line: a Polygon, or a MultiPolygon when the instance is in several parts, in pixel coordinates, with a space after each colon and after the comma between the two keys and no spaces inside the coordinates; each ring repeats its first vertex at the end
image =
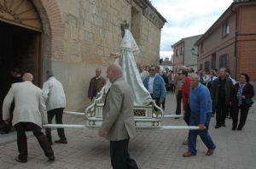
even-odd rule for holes
{"type": "Polygon", "coordinates": [[[63,56],[64,24],[55,0],[0,0],[0,29],[0,47],[5,51],[0,54],[0,73],[6,82],[1,84],[1,105],[13,67],[31,71],[35,84],[43,84],[44,69],[51,68],[50,59],[63,56]]]}

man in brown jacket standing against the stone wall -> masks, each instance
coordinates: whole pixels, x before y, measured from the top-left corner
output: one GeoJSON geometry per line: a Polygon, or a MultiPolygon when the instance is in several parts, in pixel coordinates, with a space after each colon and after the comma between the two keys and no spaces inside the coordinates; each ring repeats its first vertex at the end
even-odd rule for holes
{"type": "Polygon", "coordinates": [[[96,97],[97,93],[101,91],[102,87],[106,84],[106,80],[101,76],[102,70],[96,68],[96,76],[90,79],[90,85],[88,88],[88,99],[92,100],[96,97]]]}

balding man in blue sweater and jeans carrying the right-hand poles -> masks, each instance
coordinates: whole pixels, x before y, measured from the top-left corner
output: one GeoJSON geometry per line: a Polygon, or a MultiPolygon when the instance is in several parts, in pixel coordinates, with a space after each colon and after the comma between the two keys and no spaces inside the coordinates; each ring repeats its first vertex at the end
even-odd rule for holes
{"type": "Polygon", "coordinates": [[[198,126],[199,130],[189,131],[189,151],[184,153],[183,157],[196,155],[197,135],[201,137],[201,140],[208,148],[206,155],[212,155],[216,146],[213,144],[212,138],[208,133],[212,114],[211,95],[207,87],[200,83],[200,76],[195,73],[191,74],[190,86],[189,106],[191,112],[189,125],[198,126]]]}

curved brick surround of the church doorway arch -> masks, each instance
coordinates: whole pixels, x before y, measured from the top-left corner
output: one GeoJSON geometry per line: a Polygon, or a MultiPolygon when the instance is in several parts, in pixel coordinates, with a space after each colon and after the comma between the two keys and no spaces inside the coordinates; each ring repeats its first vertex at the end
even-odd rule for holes
{"type": "MultiPolygon", "coordinates": [[[[64,56],[65,25],[61,18],[61,11],[55,0],[33,0],[42,22],[42,62],[44,70],[51,68],[51,59],[62,59],[64,56]]],[[[43,77],[42,77],[43,81],[43,77]]]]}

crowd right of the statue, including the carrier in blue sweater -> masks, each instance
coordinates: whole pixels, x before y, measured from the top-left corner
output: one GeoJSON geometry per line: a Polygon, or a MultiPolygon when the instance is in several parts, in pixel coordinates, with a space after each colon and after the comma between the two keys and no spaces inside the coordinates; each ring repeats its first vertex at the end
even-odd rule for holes
{"type": "MultiPolygon", "coordinates": [[[[166,68],[166,72],[160,70],[155,72],[155,67],[151,66],[142,69],[140,65],[140,73],[143,83],[156,103],[160,105],[165,99],[166,93],[152,94],[154,90],[163,91],[162,87],[166,87],[166,91],[175,93],[177,108],[176,115],[183,114],[183,119],[189,126],[198,126],[199,130],[189,131],[188,139],[183,144],[188,144],[188,152],[183,157],[196,155],[196,136],[199,135],[208,150],[206,155],[212,155],[216,145],[213,143],[208,133],[211,117],[216,116],[215,128],[225,127],[225,119],[232,119],[232,130],[241,130],[246,121],[250,107],[253,104],[254,90],[250,84],[250,77],[246,73],[241,73],[239,81],[230,75],[230,69],[221,68],[212,70],[198,70],[195,72],[191,68],[182,66],[174,74],[172,70],[166,68]],[[143,77],[146,72],[148,77],[143,77]],[[154,84],[154,78],[161,76],[155,83],[161,87],[148,87],[154,84]],[[158,97],[155,97],[158,96],[158,97]],[[163,98],[164,97],[164,98],[163,98]],[[183,104],[182,104],[183,103],[183,104]],[[181,106],[183,105],[183,109],[181,106]],[[240,120],[238,117],[240,114],[240,120]]],[[[155,85],[156,86],[156,85],[155,85]]],[[[167,100],[168,101],[168,100],[167,100]]],[[[165,105],[162,105],[165,110],[165,105]]],[[[179,118],[179,117],[177,117],[179,118]]]]}

